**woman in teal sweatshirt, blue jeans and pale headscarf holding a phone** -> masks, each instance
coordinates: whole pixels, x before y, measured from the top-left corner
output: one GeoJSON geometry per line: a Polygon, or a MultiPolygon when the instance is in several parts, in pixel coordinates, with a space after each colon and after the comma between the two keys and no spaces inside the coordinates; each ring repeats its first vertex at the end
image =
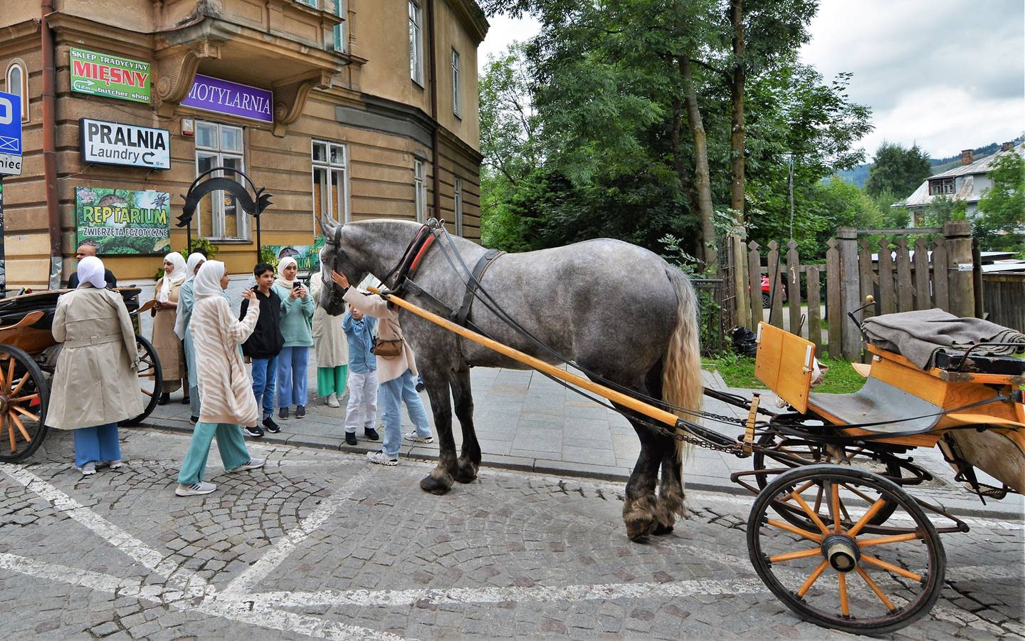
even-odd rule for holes
{"type": "Polygon", "coordinates": [[[317,306],[301,282],[295,279],[299,268],[288,256],[278,264],[274,288],[281,298],[281,335],[285,347],[278,355],[278,417],[288,420],[288,410],[295,405],[295,417],[306,415],[306,360],[314,345],[312,320],[317,306]]]}

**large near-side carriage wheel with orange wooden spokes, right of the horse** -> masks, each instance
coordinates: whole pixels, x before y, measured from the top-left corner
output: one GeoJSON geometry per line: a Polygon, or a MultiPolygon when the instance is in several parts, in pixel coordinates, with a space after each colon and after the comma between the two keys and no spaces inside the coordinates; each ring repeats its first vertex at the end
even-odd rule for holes
{"type": "Polygon", "coordinates": [[[758,576],[794,613],[852,634],[893,632],[927,614],[946,569],[936,528],[914,499],[849,466],[808,466],[773,479],[751,508],[747,549],[758,576]],[[816,509],[809,500],[819,488],[826,500],[816,509]],[[890,525],[872,525],[888,503],[890,525]],[[814,527],[774,518],[780,507],[804,512],[814,527]]]}

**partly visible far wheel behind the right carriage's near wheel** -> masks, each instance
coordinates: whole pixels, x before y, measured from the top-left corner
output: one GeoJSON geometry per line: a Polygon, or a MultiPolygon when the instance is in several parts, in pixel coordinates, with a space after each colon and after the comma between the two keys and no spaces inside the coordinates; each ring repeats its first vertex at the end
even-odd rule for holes
{"type": "MultiPolygon", "coordinates": [[[[767,432],[758,437],[757,444],[767,449],[775,449],[786,455],[774,456],[772,453],[766,453],[765,451],[755,451],[751,455],[751,466],[754,470],[765,470],[766,468],[766,457],[768,456],[773,462],[779,464],[780,467],[787,468],[797,468],[803,467],[798,465],[795,460],[791,458],[797,456],[805,459],[807,463],[804,465],[818,465],[818,464],[837,464],[838,462],[833,460],[834,456],[824,450],[821,443],[816,443],[808,439],[791,438],[786,436],[781,436],[773,432],[767,432]]],[[[874,462],[880,468],[885,466],[886,474],[883,474],[881,469],[872,470],[872,472],[885,476],[889,479],[900,479],[901,478],[901,468],[893,460],[880,460],[873,456],[871,450],[861,450],[859,448],[842,446],[844,456],[848,457],[848,462],[853,462],[856,466],[863,466],[874,462]],[[864,453],[862,453],[864,452],[864,453]]],[[[755,474],[754,482],[757,484],[758,489],[765,489],[766,485],[769,483],[767,474],[755,474]]],[[[821,499],[820,495],[815,498],[821,499]]],[[[870,498],[864,496],[866,500],[873,500],[874,497],[870,498]]],[[[814,504],[813,504],[814,505],[814,504]]],[[[878,525],[886,522],[890,515],[894,513],[897,509],[896,504],[888,502],[883,509],[880,509],[870,523],[872,525],[878,525]]],[[[808,520],[803,514],[791,511],[782,510],[780,512],[781,516],[787,521],[796,525],[798,527],[808,528],[812,526],[812,522],[808,520]]]]}

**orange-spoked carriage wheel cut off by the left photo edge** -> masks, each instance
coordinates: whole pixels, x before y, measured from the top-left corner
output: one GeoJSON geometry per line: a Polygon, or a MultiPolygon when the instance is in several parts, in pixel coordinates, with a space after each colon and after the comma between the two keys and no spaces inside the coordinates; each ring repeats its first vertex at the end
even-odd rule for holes
{"type": "Polygon", "coordinates": [[[50,388],[25,351],[0,345],[0,462],[20,460],[46,437],[50,388]]]}

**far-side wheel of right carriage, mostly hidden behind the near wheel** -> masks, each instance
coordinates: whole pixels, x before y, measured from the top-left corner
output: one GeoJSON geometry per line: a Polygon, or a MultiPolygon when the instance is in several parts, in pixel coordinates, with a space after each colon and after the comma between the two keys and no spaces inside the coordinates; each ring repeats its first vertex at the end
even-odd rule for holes
{"type": "MultiPolygon", "coordinates": [[[[774,432],[763,434],[758,437],[757,443],[769,451],[755,451],[751,456],[751,465],[755,470],[767,469],[766,458],[768,457],[773,463],[778,464],[778,467],[797,468],[818,464],[845,465],[872,472],[889,479],[901,478],[901,468],[897,463],[881,460],[875,452],[863,446],[826,446],[823,443],[817,443],[809,439],[783,436],[774,432]],[[778,452],[779,455],[774,455],[774,452],[778,452]],[[794,456],[805,463],[797,464],[792,459],[794,456]]],[[[767,474],[754,475],[754,482],[757,483],[760,489],[765,489],[766,485],[768,485],[768,476],[767,474]]],[[[825,491],[821,487],[816,489],[815,495],[809,502],[813,506],[813,509],[817,509],[821,505],[824,495],[825,491]]],[[[864,500],[869,503],[874,503],[878,497],[878,494],[866,494],[862,496],[864,500]]],[[[887,502],[875,516],[872,517],[871,524],[878,525],[879,523],[884,523],[896,509],[896,504],[887,502]]],[[[814,527],[814,524],[803,511],[783,509],[780,510],[780,515],[797,527],[805,529],[814,527]]]]}

